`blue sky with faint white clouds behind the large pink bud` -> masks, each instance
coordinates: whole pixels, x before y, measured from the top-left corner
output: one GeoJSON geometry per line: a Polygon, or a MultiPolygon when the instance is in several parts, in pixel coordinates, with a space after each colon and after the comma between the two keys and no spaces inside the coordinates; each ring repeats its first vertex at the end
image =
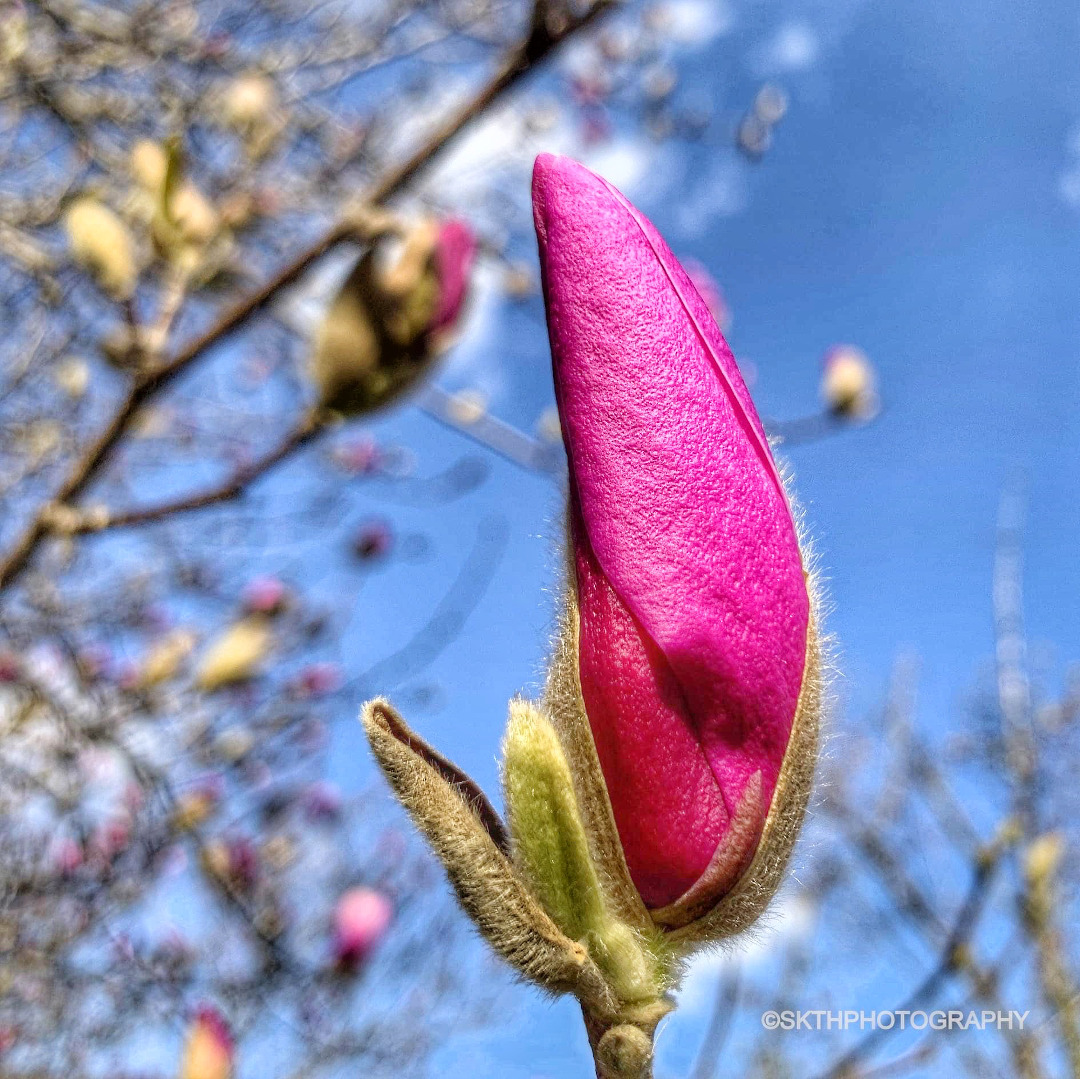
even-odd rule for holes
{"type": "MultiPolygon", "coordinates": [[[[1010,0],[761,0],[716,5],[710,18],[700,4],[680,10],[691,40],[677,57],[679,93],[738,112],[775,79],[791,108],[773,148],[750,166],[726,138],[658,146],[617,134],[586,160],[721,283],[730,341],[758,370],[764,414],[816,407],[828,346],[851,341],[873,359],[878,420],[787,455],[835,606],[842,677],[831,752],[873,721],[901,653],[921,660],[919,721],[959,727],[993,657],[994,528],[1010,476],[1027,500],[1030,636],[1052,646],[1057,674],[1080,659],[1080,10],[1010,0]]],[[[567,147],[565,132],[550,141],[567,147]]],[[[537,148],[548,148],[542,137],[537,148]]],[[[432,183],[471,160],[451,160],[432,183]]],[[[526,173],[515,183],[524,213],[526,173]]],[[[521,251],[535,260],[531,241],[521,251]]],[[[482,298],[477,309],[441,380],[482,386],[494,414],[531,428],[552,400],[539,302],[482,298]]],[[[376,429],[429,471],[469,449],[415,408],[376,429]]],[[[541,672],[559,504],[551,480],[494,461],[486,485],[434,511],[430,561],[365,584],[343,642],[365,662],[404,642],[481,523],[505,518],[490,589],[424,675],[441,685],[437,704],[409,716],[491,791],[507,700],[541,672]]],[[[406,531],[432,530],[432,512],[392,510],[406,531]]],[[[336,740],[338,779],[368,781],[359,728],[340,725],[336,740]]],[[[858,1003],[887,1007],[902,988],[858,1003]]],[[[688,1003],[662,1043],[673,1074],[699,1037],[688,1003]]],[[[572,1006],[508,988],[508,1008],[507,1026],[451,1048],[451,1073],[468,1062],[474,1075],[584,1074],[572,1006]]]]}

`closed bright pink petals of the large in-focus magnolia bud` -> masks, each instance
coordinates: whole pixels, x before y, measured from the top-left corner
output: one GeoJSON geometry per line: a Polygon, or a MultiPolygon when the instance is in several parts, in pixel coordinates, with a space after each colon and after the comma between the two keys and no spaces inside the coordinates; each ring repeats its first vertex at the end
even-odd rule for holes
{"type": "Polygon", "coordinates": [[[625,868],[667,927],[751,877],[759,912],[813,768],[813,738],[793,734],[818,661],[792,509],[731,351],[653,226],[566,158],[537,159],[532,198],[576,675],[625,868]]]}

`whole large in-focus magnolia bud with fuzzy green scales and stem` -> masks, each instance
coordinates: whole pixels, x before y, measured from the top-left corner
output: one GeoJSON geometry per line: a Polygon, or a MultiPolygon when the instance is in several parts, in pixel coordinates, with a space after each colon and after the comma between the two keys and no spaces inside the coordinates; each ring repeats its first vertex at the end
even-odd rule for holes
{"type": "Polygon", "coordinates": [[[487,941],[578,997],[597,1075],[644,1079],[681,958],[754,922],[801,826],[816,594],[739,368],[659,233],[546,154],[534,212],[570,581],[544,699],[511,704],[509,830],[387,701],[363,721],[487,941]]]}

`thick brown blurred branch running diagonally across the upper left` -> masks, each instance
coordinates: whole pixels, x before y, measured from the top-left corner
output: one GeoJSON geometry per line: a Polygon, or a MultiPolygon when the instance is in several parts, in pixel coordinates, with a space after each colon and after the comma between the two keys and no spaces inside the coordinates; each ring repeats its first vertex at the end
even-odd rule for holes
{"type": "MultiPolygon", "coordinates": [[[[482,116],[564,41],[583,29],[604,12],[613,8],[617,0],[594,0],[583,11],[571,13],[563,4],[555,3],[553,0],[537,0],[527,35],[509,51],[491,78],[457,111],[444,120],[410,158],[376,180],[370,190],[366,192],[364,202],[369,205],[381,203],[401,191],[446,148],[455,136],[482,116]]],[[[22,534],[0,558],[0,590],[8,588],[19,577],[38,547],[51,534],[52,525],[56,518],[56,507],[67,505],[79,498],[96,478],[116,445],[126,434],[139,409],[211,348],[240,329],[323,255],[342,241],[350,239],[354,233],[353,215],[347,212],[259,288],[241,298],[201,334],[183,345],[171,359],[135,376],[112,418],[75,461],[66,480],[53,498],[38,509],[22,534]]],[[[288,451],[295,448],[297,448],[296,445],[292,446],[288,451]]],[[[278,460],[281,459],[281,457],[278,458],[278,460]]],[[[246,484],[241,485],[241,490],[243,486],[246,484]]],[[[230,487],[231,489],[232,487],[230,487]]],[[[194,496],[197,500],[198,497],[194,496]]],[[[222,496],[213,501],[224,501],[227,497],[234,497],[234,495],[222,496]]],[[[132,514],[127,516],[131,518],[132,514]]],[[[157,516],[161,516],[161,514],[159,513],[157,516]]],[[[127,523],[135,524],[136,521],[129,520],[127,523]]]]}

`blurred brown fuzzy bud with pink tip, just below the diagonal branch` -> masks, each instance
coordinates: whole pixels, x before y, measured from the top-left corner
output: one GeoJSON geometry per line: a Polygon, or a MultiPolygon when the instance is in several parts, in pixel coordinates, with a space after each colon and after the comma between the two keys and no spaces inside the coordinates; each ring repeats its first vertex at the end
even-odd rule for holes
{"type": "Polygon", "coordinates": [[[315,335],[311,370],[324,406],[367,413],[417,382],[460,318],[474,252],[472,232],[454,219],[373,242],[315,335]]]}

